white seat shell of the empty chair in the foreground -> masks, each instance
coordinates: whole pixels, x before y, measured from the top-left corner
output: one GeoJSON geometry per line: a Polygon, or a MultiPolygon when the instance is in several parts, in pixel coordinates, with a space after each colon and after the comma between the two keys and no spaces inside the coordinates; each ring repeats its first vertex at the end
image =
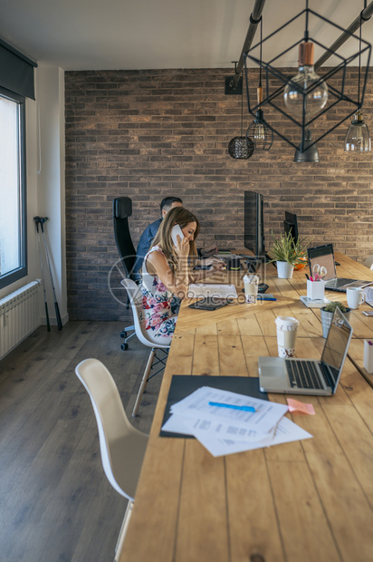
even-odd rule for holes
{"type": "Polygon", "coordinates": [[[91,398],[105,474],[121,496],[133,500],[148,436],[129,423],[117,385],[103,363],[85,359],[75,373],[91,398]]]}

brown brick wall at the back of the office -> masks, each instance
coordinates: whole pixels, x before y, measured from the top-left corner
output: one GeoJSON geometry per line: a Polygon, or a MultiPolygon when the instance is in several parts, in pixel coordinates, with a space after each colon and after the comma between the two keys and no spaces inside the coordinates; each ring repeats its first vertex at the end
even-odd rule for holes
{"type": "MultiPolygon", "coordinates": [[[[301,236],[314,245],[333,242],[360,262],[373,253],[373,153],[344,153],[349,121],[320,141],[318,164],[293,162],[294,150],[276,136],[268,152],[234,160],[227,146],[240,135],[241,98],[225,95],[229,74],[232,69],[65,73],[72,319],[128,315],[110,291],[119,283],[110,269],[118,259],[111,204],[120,195],[132,199],[135,246],[158,218],[160,200],[177,195],[201,220],[199,246],[243,247],[244,190],[251,189],[263,193],[267,247],[270,231],[282,231],[287,209],[297,213],[301,236]]],[[[350,90],[356,76],[349,70],[350,90]]],[[[373,132],[372,99],[370,79],[364,117],[373,132]]],[[[327,115],[338,121],[338,110],[327,115]]],[[[292,132],[281,116],[266,117],[292,132]]],[[[252,121],[244,103],[244,131],[252,121]]]]}

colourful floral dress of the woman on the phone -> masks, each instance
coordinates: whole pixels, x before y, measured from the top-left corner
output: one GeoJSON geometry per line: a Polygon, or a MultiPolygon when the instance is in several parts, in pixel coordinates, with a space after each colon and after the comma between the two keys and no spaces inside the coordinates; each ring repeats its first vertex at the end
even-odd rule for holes
{"type": "Polygon", "coordinates": [[[177,315],[171,311],[171,301],[174,295],[158,279],[158,276],[151,276],[147,270],[147,258],[151,252],[164,253],[158,246],[152,247],[142,266],[142,318],[141,325],[146,330],[150,330],[152,337],[172,337],[175,331],[177,315]]]}

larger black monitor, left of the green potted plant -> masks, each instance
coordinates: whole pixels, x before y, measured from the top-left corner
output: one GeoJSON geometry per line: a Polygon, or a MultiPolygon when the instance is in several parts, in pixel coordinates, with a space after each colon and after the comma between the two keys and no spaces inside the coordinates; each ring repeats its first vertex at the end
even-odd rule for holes
{"type": "Polygon", "coordinates": [[[244,191],[244,247],[265,257],[263,195],[255,191],[244,191]]]}

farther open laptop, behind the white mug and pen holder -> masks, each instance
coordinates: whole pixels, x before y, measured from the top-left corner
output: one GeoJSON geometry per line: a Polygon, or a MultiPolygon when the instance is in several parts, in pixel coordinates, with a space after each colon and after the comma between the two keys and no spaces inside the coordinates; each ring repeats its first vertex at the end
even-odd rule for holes
{"type": "Polygon", "coordinates": [[[371,281],[359,281],[358,279],[337,277],[332,244],[309,247],[308,260],[311,276],[314,276],[315,272],[319,272],[322,267],[322,279],[325,281],[325,288],[329,289],[330,291],[339,291],[340,293],[346,293],[347,287],[364,287],[372,283],[371,281]]]}

